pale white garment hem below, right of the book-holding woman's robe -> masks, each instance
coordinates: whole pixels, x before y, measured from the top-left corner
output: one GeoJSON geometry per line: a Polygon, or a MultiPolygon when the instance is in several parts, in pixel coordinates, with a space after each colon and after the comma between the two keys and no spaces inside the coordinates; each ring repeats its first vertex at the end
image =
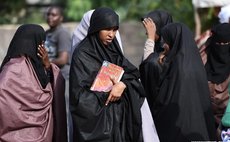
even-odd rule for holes
{"type": "Polygon", "coordinates": [[[144,142],[159,142],[160,140],[146,99],[141,107],[141,117],[144,142]]]}

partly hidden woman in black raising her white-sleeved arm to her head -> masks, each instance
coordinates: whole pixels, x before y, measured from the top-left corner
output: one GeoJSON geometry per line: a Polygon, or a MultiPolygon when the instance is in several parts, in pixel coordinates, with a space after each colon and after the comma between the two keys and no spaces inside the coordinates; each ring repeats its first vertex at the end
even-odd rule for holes
{"type": "Polygon", "coordinates": [[[144,48],[143,62],[140,64],[141,82],[146,91],[146,97],[150,110],[153,111],[153,102],[158,93],[160,74],[162,71],[158,63],[162,48],[161,29],[163,26],[172,23],[172,16],[163,10],[154,10],[149,12],[142,19],[146,29],[147,40],[144,48]]]}

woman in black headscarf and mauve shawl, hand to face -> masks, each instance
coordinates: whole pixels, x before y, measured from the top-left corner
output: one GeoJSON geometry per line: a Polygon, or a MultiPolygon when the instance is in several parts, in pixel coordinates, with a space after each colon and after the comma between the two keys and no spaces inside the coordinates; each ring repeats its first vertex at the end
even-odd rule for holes
{"type": "Polygon", "coordinates": [[[0,141],[67,141],[64,78],[44,41],[40,25],[24,24],[10,42],[0,68],[0,141]]]}

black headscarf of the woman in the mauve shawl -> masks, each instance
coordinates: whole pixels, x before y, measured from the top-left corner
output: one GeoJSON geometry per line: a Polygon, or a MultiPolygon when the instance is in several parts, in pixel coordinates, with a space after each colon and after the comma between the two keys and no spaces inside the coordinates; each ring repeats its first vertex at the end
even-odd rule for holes
{"type": "Polygon", "coordinates": [[[11,58],[28,56],[42,87],[45,88],[49,79],[45,74],[41,59],[37,56],[38,45],[42,44],[43,41],[45,41],[45,31],[41,26],[35,24],[21,25],[10,42],[0,71],[11,58]]]}

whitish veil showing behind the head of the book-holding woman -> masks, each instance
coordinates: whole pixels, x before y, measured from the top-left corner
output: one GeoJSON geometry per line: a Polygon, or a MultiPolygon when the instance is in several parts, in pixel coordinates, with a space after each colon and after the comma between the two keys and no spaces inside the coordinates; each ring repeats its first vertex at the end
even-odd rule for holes
{"type": "MultiPolygon", "coordinates": [[[[87,11],[83,15],[80,23],[77,25],[77,27],[75,28],[75,30],[73,32],[72,45],[71,45],[71,51],[70,51],[70,59],[72,59],[74,49],[87,36],[88,29],[90,26],[90,18],[91,18],[91,15],[93,14],[93,12],[94,12],[94,10],[87,11]]],[[[116,33],[116,38],[117,38],[117,41],[121,47],[121,51],[123,52],[123,47],[122,47],[121,37],[120,37],[119,31],[117,31],[117,33],[116,33]]]]}

